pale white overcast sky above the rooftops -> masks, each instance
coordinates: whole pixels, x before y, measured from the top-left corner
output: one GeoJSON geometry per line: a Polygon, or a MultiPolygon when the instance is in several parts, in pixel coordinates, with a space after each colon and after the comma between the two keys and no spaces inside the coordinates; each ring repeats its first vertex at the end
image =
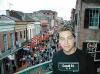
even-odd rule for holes
{"type": "Polygon", "coordinates": [[[0,0],[0,10],[17,10],[32,13],[38,10],[53,10],[58,17],[69,20],[76,0],[0,0]]]}

